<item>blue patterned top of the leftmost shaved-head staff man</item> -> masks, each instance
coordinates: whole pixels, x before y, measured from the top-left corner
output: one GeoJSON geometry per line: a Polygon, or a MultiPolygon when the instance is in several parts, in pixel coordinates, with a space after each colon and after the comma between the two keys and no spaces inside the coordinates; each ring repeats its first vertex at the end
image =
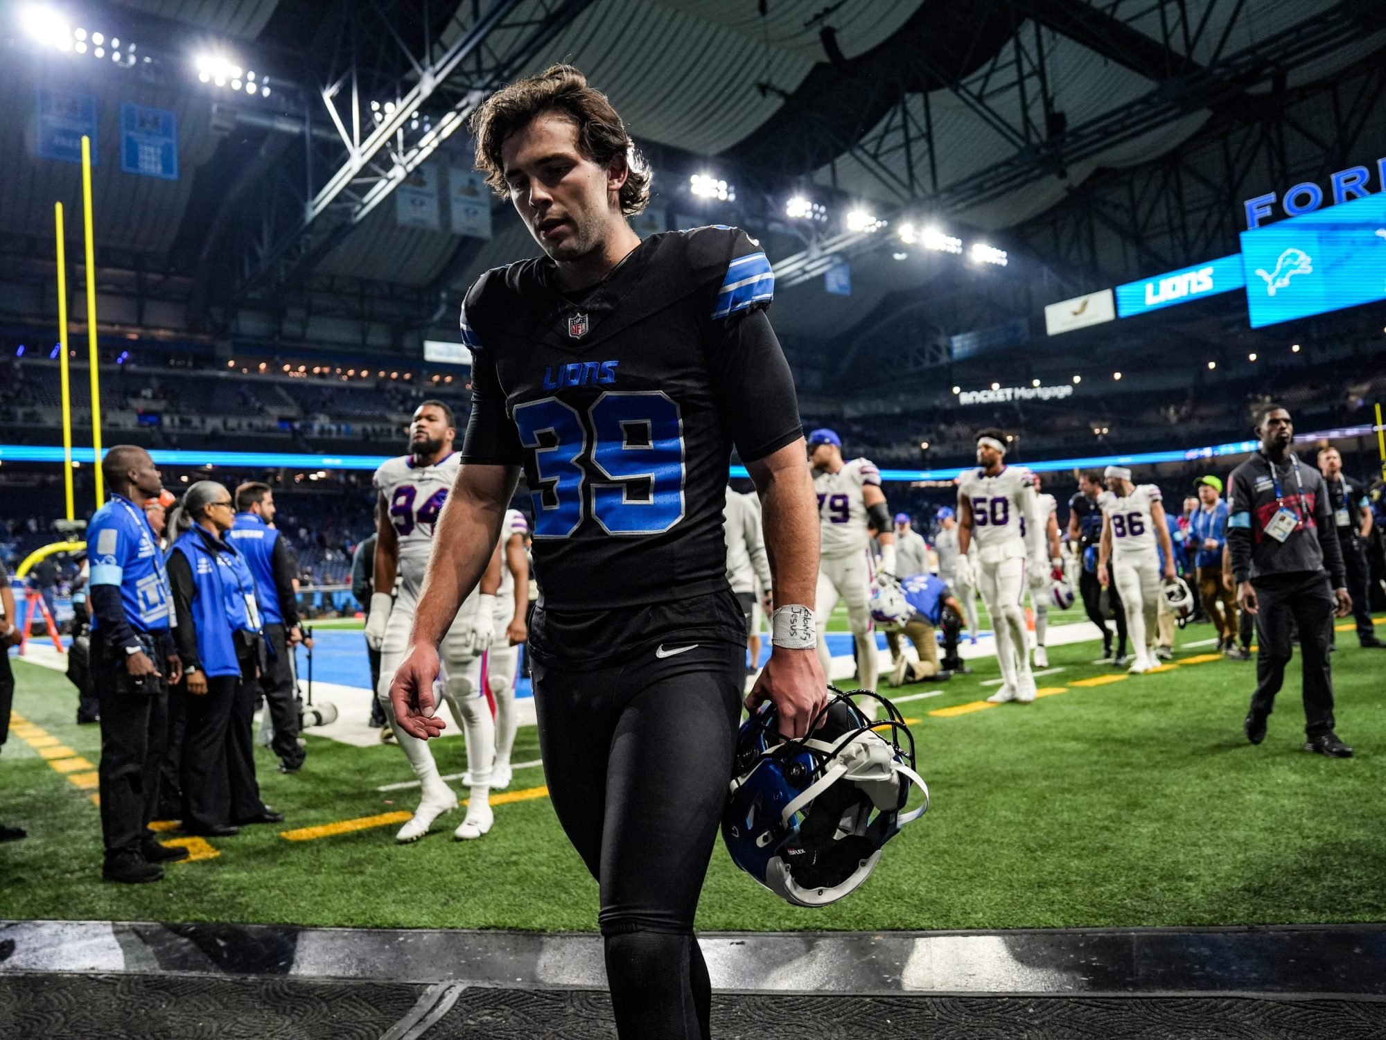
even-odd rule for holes
{"type": "MultiPolygon", "coordinates": [[[[125,618],[134,631],[166,630],[172,609],[169,580],[159,541],[144,510],[125,495],[111,495],[111,501],[91,516],[86,539],[90,584],[121,589],[125,618]]],[[[93,616],[91,631],[98,625],[93,616]]]]}

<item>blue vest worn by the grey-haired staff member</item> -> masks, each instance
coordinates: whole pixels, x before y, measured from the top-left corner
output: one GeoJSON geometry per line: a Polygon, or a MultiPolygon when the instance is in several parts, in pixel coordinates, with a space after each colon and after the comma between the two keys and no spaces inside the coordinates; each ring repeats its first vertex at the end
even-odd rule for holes
{"type": "Polygon", "coordinates": [[[240,675],[234,634],[261,631],[255,578],[245,559],[225,544],[213,549],[212,539],[197,527],[173,542],[169,552],[183,553],[193,571],[193,628],[202,673],[209,678],[240,675]]]}

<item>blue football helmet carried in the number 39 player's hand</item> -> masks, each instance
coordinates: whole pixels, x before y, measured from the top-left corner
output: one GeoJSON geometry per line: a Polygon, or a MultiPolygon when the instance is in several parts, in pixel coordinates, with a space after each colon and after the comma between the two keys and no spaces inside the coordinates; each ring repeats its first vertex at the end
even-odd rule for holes
{"type": "MultiPolygon", "coordinates": [[[[732,861],[776,896],[801,907],[836,903],[861,886],[886,842],[929,808],[929,786],[915,772],[915,739],[900,710],[868,718],[852,699],[834,696],[809,736],[786,740],[772,704],[742,725],[722,840],[732,861]],[[923,804],[905,813],[911,788],[923,804]]],[[[815,720],[816,721],[816,720],[815,720]]]]}

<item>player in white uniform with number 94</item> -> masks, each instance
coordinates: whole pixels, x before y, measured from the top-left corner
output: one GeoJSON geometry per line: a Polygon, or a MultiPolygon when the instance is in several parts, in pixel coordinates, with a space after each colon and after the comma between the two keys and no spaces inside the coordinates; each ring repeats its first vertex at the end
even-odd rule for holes
{"type": "MultiPolygon", "coordinates": [[[[456,433],[452,409],[441,401],[424,401],[414,409],[409,424],[409,455],[381,463],[373,480],[378,491],[376,592],[366,621],[366,641],[380,649],[380,686],[376,695],[389,714],[395,739],[409,756],[423,788],[413,818],[395,835],[399,842],[423,838],[434,820],[457,806],[457,796],[438,775],[428,745],[410,736],[395,721],[389,707],[389,684],[409,646],[414,606],[432,551],[434,524],[457,476],[459,456],[452,447],[456,433]],[[399,596],[391,602],[389,589],[395,588],[396,577],[399,596]]],[[[459,839],[481,838],[493,822],[488,795],[495,729],[481,688],[481,655],[491,639],[499,587],[498,560],[492,559],[478,591],[457,610],[441,648],[442,695],[467,735],[467,761],[471,767],[471,799],[467,817],[455,832],[459,839]]]]}

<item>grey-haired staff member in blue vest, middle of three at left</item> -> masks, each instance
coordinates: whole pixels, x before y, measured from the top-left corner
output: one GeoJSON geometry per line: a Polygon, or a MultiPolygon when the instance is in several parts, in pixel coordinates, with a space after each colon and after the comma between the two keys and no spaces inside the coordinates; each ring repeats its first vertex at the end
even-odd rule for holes
{"type": "Polygon", "coordinates": [[[183,831],[229,838],[241,824],[277,824],[255,782],[251,724],[265,642],[245,557],[225,541],[234,521],[230,492],[200,480],[183,495],[169,528],[173,631],[187,677],[183,735],[183,831]]]}

